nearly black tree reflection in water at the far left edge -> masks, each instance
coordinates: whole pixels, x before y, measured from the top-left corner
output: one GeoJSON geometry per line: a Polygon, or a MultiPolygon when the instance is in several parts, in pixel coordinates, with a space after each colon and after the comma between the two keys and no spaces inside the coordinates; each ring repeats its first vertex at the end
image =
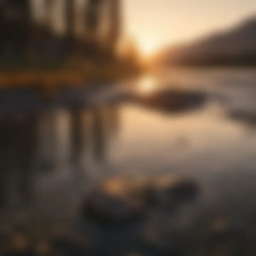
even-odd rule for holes
{"type": "Polygon", "coordinates": [[[33,196],[33,167],[37,147],[37,118],[32,113],[18,113],[1,118],[0,124],[0,202],[7,203],[13,184],[15,194],[23,202],[33,196]]]}

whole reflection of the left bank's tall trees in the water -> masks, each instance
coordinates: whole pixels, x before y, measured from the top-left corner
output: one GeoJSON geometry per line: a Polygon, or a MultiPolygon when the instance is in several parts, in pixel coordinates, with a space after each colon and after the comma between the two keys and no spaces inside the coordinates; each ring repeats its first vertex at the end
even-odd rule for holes
{"type": "Polygon", "coordinates": [[[85,153],[96,162],[106,158],[118,129],[118,107],[78,107],[63,113],[48,110],[1,117],[0,202],[8,203],[11,196],[29,201],[38,168],[55,171],[70,159],[72,169],[80,171],[85,153]]]}

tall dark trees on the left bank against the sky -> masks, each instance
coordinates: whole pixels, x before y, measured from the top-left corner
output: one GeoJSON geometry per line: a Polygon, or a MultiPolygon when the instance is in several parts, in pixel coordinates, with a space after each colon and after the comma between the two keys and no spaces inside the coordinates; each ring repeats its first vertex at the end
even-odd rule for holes
{"type": "Polygon", "coordinates": [[[94,48],[110,52],[119,34],[118,12],[118,0],[2,0],[0,60],[63,60],[94,48]]]}

